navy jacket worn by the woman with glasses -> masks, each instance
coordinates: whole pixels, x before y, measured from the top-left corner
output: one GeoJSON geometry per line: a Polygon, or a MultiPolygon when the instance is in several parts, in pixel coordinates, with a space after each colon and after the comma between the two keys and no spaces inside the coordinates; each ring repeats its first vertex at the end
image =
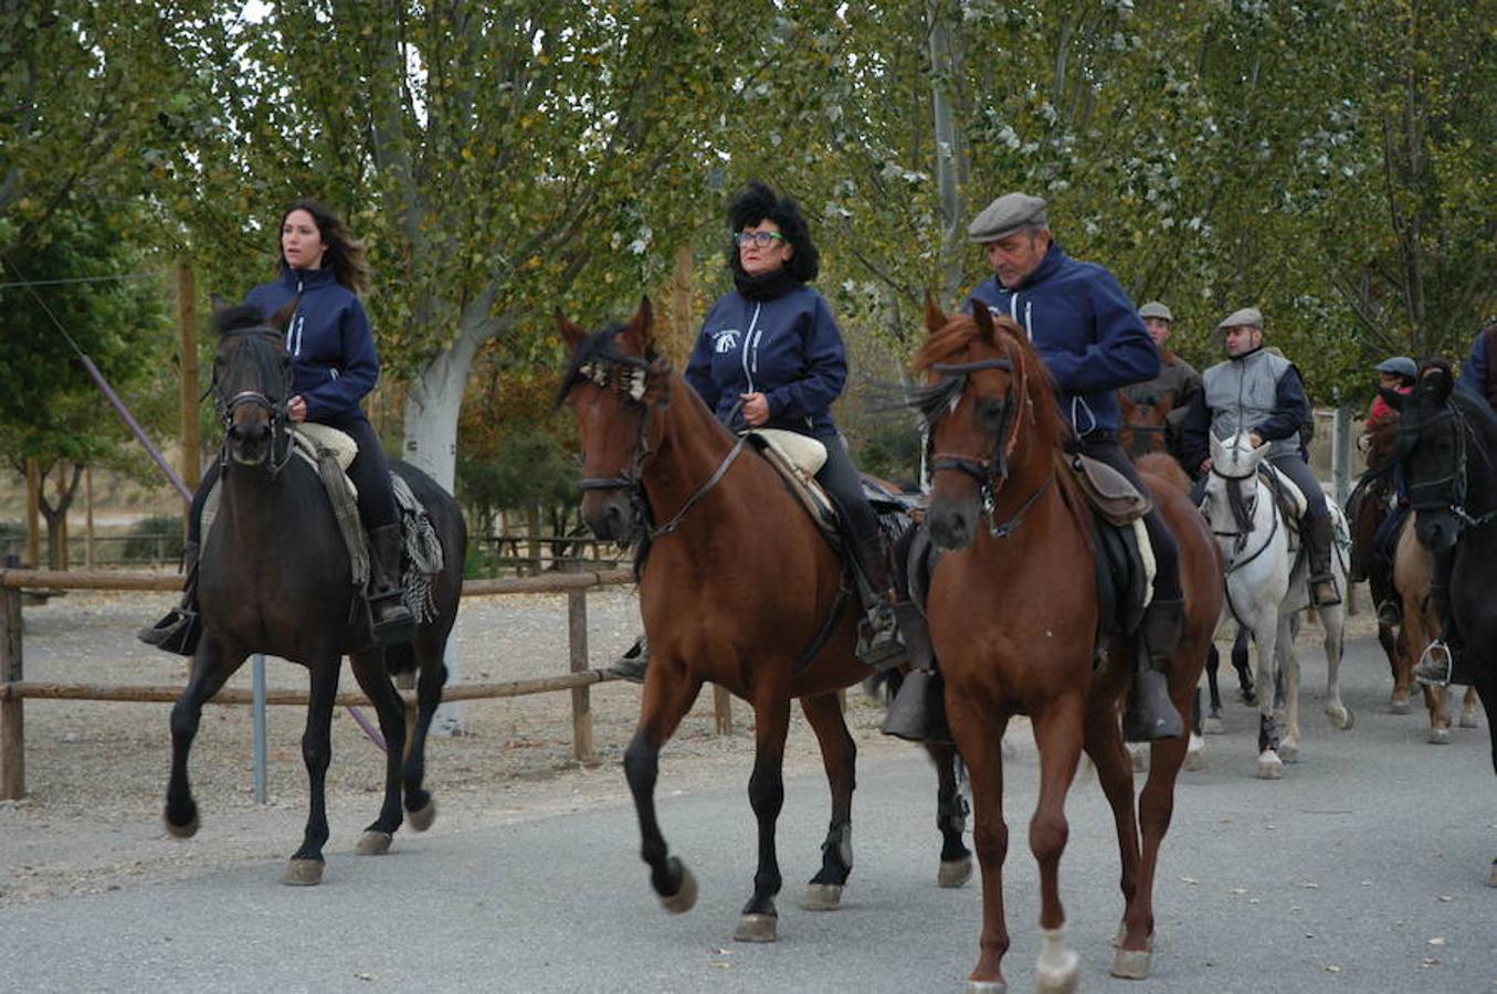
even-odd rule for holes
{"type": "MultiPolygon", "coordinates": [[[[847,382],[847,350],[826,298],[808,286],[769,301],[732,290],[702,322],[686,382],[719,421],[726,422],[740,394],[763,394],[765,427],[835,439],[831,404],[847,382]]],[[[728,427],[741,428],[741,416],[735,421],[728,427]]]]}

